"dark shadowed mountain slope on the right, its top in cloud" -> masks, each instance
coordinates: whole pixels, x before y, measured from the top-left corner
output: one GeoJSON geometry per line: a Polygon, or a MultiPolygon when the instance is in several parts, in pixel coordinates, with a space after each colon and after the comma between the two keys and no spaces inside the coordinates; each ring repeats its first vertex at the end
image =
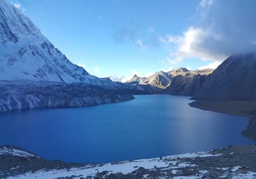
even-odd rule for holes
{"type": "Polygon", "coordinates": [[[228,57],[205,80],[196,99],[256,100],[256,51],[228,57]]]}

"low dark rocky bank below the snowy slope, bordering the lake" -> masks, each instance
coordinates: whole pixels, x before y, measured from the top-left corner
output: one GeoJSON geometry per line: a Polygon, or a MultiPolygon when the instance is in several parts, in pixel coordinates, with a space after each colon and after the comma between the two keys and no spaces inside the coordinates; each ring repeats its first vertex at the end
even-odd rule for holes
{"type": "Polygon", "coordinates": [[[0,111],[30,107],[79,107],[135,99],[133,89],[60,82],[0,82],[0,111]]]}

